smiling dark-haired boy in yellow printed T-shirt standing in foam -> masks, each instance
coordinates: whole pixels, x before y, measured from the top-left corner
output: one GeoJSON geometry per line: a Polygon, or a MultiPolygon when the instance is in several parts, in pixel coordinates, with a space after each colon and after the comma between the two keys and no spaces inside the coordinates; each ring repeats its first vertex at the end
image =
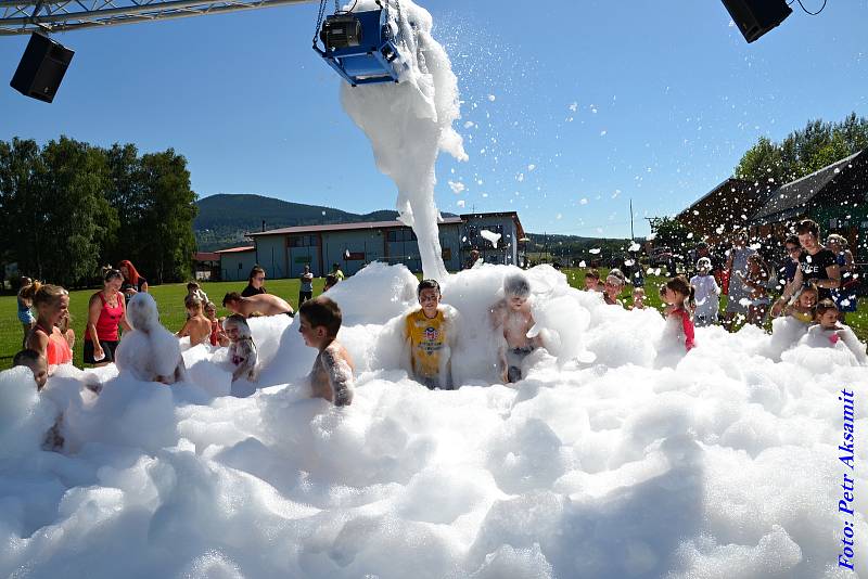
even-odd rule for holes
{"type": "Polygon", "coordinates": [[[420,309],[407,314],[404,337],[413,377],[429,389],[451,389],[451,351],[457,331],[455,308],[441,304],[441,285],[422,280],[416,290],[420,309]]]}

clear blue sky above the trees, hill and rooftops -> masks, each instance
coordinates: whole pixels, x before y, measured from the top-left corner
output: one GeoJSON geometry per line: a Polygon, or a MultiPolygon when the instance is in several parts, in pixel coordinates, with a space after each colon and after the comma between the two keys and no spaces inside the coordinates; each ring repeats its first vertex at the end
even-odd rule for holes
{"type": "MultiPolygon", "coordinates": [[[[868,116],[868,8],[855,4],[829,2],[818,16],[794,4],[748,44],[718,0],[422,2],[459,78],[470,155],[441,157],[437,204],[518,210],[531,232],[624,237],[631,198],[636,234],[647,234],[643,217],[703,195],[760,136],[868,116]]],[[[48,105],[4,83],[0,139],[174,147],[200,196],[392,208],[394,184],[310,50],[316,11],[59,35],[76,51],[59,95],[48,105]]],[[[26,41],[0,38],[0,76],[12,77],[26,41]]]]}

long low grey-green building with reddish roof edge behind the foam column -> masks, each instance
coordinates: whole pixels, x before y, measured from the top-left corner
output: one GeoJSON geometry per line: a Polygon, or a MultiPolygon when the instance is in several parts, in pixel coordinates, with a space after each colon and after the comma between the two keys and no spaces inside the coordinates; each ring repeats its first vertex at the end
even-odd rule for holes
{"type": "MultiPolygon", "coordinates": [[[[487,234],[492,236],[490,234],[487,234]]],[[[421,271],[419,245],[412,230],[400,221],[299,226],[251,233],[254,247],[220,252],[220,270],[227,281],[247,279],[258,263],[268,276],[297,278],[305,265],[314,275],[326,275],[337,263],[347,275],[371,261],[404,263],[421,271]]],[[[439,223],[441,248],[446,269],[457,271],[477,249],[486,262],[519,263],[519,240],[524,230],[515,211],[446,217],[439,223]],[[484,230],[500,234],[495,248],[484,230]]]]}

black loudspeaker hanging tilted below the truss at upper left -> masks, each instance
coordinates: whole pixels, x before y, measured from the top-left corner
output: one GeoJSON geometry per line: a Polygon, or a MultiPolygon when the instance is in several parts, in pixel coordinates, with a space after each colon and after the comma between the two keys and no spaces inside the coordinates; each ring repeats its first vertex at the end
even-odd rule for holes
{"type": "Polygon", "coordinates": [[[18,68],[9,83],[25,97],[50,103],[58,93],[74,51],[40,34],[31,34],[18,68]]]}

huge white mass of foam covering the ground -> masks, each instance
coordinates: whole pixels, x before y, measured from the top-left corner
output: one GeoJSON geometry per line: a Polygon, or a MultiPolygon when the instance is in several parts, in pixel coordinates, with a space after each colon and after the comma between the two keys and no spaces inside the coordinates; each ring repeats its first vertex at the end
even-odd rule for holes
{"type": "MultiPolygon", "coordinates": [[[[307,398],[315,352],[284,316],[251,320],[263,371],[235,396],[225,350],[202,347],[171,386],[65,369],[37,395],[26,370],[2,373],[0,575],[839,576],[838,393],[868,369],[806,345],[776,362],[769,336],[717,327],[661,365],[661,316],[538,267],[561,351],[494,384],[487,309],[510,271],[444,283],[463,320],[454,391],[390,357],[417,282],[382,265],[329,293],[359,366],[344,409],[307,398]],[[41,450],[61,412],[63,450],[41,450]]],[[[857,480],[864,463],[857,446],[857,480]]],[[[864,528],[857,514],[857,544],[864,528]]]]}

